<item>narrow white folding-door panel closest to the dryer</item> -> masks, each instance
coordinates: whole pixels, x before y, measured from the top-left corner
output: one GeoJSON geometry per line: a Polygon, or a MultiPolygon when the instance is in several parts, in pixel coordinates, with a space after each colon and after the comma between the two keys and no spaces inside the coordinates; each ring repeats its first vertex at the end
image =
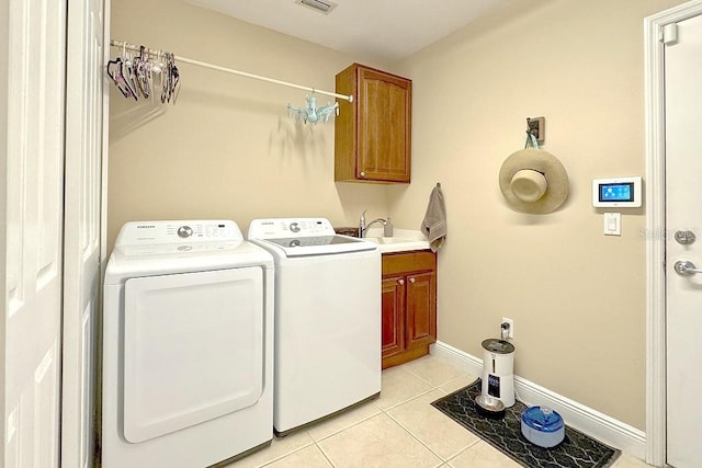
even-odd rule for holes
{"type": "Polygon", "coordinates": [[[92,466],[100,310],[103,0],[68,4],[61,466],[92,466]]]}

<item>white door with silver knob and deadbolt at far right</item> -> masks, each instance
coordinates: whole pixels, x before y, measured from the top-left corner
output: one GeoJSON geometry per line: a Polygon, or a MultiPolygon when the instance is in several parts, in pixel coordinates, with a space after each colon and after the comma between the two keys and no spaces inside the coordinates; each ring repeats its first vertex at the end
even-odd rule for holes
{"type": "Polygon", "coordinates": [[[667,463],[694,468],[702,467],[702,273],[680,265],[702,269],[702,16],[678,23],[665,70],[667,463]]]}

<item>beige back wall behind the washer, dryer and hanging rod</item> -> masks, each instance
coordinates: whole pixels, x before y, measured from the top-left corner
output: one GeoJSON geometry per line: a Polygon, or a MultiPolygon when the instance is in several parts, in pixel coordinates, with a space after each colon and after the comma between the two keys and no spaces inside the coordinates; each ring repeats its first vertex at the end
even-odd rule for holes
{"type": "MultiPolygon", "coordinates": [[[[227,68],[333,91],[353,58],[190,5],[112,2],[111,36],[227,68]]],[[[112,57],[121,50],[112,49],[112,57]]],[[[383,64],[369,64],[378,65],[383,64]]],[[[333,123],[305,126],[305,91],[180,65],[176,105],[126,101],[112,87],[109,248],[128,220],[385,216],[387,190],[333,182],[333,123]]],[[[318,105],[332,101],[317,95],[318,105]]]]}

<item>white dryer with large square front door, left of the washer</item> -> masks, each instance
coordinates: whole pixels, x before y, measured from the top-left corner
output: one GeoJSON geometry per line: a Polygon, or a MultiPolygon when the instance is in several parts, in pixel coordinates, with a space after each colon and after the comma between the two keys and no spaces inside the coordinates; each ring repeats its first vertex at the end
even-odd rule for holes
{"type": "Polygon", "coordinates": [[[104,468],[202,468],[270,443],[273,282],[234,221],[122,227],[104,283],[104,468]]]}

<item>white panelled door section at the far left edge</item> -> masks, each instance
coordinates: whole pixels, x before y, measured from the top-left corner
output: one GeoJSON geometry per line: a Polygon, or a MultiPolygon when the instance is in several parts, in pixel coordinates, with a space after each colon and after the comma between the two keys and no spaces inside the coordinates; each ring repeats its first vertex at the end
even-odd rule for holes
{"type": "Polygon", "coordinates": [[[66,1],[3,1],[0,44],[0,465],[57,467],[66,1]]]}

